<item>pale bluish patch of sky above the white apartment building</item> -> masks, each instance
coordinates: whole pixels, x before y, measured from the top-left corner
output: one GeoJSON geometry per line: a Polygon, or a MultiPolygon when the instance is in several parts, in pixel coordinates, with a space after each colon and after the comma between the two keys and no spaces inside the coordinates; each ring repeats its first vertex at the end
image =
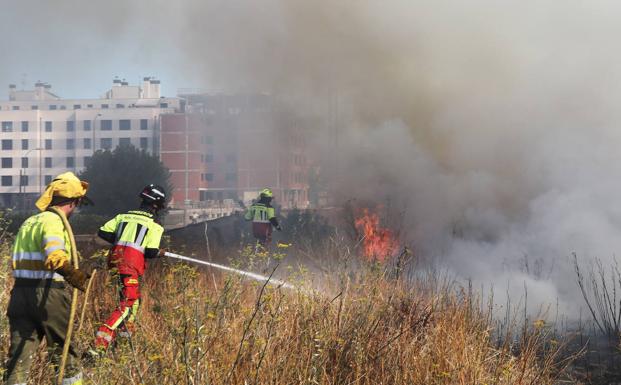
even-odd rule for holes
{"type": "Polygon", "coordinates": [[[160,20],[150,24],[139,19],[138,9],[156,2],[2,2],[4,88],[16,84],[29,89],[41,80],[62,97],[96,98],[115,76],[131,84],[156,76],[167,96],[200,85],[200,79],[192,79],[179,65],[180,53],[166,26],[160,20]]]}

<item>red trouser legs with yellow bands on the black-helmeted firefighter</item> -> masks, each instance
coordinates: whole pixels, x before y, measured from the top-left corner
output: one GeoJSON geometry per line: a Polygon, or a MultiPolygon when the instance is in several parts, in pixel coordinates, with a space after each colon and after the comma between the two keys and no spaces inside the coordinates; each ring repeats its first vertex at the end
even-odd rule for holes
{"type": "Polygon", "coordinates": [[[137,275],[119,277],[119,306],[97,330],[95,347],[107,349],[117,332],[131,333],[140,306],[140,283],[137,275]]]}

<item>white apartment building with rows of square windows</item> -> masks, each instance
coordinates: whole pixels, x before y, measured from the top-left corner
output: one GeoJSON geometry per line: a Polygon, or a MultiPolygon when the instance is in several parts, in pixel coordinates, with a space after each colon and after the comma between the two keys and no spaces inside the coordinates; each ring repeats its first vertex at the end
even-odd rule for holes
{"type": "Polygon", "coordinates": [[[0,207],[31,207],[55,175],[80,172],[97,150],[132,144],[158,154],[160,115],[183,108],[153,78],[138,86],[115,79],[98,99],[62,99],[42,82],[10,85],[0,101],[0,207]]]}

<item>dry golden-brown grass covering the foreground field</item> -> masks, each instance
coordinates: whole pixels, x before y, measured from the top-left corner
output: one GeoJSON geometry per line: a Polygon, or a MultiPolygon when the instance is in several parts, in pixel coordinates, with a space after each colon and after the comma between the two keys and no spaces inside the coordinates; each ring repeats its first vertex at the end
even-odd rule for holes
{"type": "MultiPolygon", "coordinates": [[[[10,279],[2,266],[5,308],[10,279]]],[[[87,368],[87,378],[94,384],[559,383],[560,346],[550,343],[545,327],[494,346],[488,310],[431,278],[406,288],[368,269],[342,275],[325,295],[155,264],[143,282],[137,332],[87,368]]],[[[82,348],[116,301],[106,275],[93,293],[78,336],[82,348]]],[[[0,339],[4,359],[4,319],[0,339]]],[[[50,383],[41,356],[33,383],[50,383]]]]}

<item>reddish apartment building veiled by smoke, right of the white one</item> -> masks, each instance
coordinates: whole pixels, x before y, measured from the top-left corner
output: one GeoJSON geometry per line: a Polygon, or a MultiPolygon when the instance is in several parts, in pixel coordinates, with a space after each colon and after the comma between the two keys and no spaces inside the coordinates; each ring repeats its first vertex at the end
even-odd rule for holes
{"type": "Polygon", "coordinates": [[[308,206],[305,130],[273,96],[179,96],[186,111],[161,118],[161,159],[172,173],[175,203],[249,202],[270,187],[284,208],[308,206]]]}

